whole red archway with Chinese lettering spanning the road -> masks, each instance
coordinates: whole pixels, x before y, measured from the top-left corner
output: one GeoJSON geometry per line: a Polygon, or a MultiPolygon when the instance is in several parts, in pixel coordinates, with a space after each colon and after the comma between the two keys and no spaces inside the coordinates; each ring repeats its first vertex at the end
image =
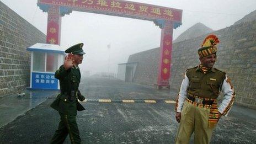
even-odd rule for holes
{"type": "Polygon", "coordinates": [[[182,24],[182,10],[121,0],[38,0],[48,13],[47,44],[60,45],[61,17],[72,10],[150,20],[162,29],[158,66],[158,87],[169,87],[173,29],[182,24]]]}

